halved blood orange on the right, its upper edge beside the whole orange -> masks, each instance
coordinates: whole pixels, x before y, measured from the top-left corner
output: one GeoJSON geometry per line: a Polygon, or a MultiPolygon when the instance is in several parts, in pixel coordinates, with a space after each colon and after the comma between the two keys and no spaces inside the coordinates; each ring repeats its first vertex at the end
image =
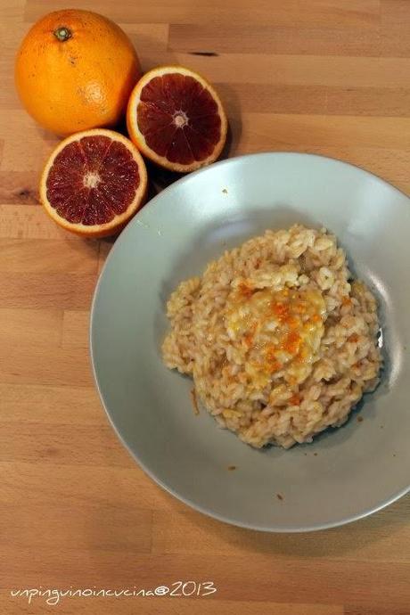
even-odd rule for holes
{"type": "Polygon", "coordinates": [[[201,75],[182,66],[160,66],[136,84],[127,128],[147,158],[187,173],[217,160],[227,121],[216,91],[201,75]]]}

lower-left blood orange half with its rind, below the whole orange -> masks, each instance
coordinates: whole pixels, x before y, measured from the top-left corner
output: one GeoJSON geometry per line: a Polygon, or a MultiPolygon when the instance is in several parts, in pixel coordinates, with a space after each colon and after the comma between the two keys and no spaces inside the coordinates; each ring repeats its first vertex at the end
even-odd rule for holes
{"type": "Polygon", "coordinates": [[[143,203],[147,173],[125,136],[95,128],[55,148],[40,179],[40,200],[63,228],[84,237],[118,233],[143,203]]]}

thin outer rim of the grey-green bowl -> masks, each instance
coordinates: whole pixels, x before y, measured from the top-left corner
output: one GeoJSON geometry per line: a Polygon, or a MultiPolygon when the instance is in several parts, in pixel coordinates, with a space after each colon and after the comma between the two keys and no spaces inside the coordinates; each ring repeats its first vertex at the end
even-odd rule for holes
{"type": "Polygon", "coordinates": [[[383,508],[389,506],[390,504],[393,504],[394,502],[396,502],[398,499],[400,499],[403,496],[406,496],[407,493],[410,492],[410,483],[403,489],[400,489],[397,492],[393,492],[390,496],[388,496],[385,500],[383,500],[380,504],[376,504],[371,506],[370,508],[366,508],[364,511],[362,512],[358,512],[357,514],[354,515],[350,515],[348,517],[346,517],[345,519],[341,519],[339,521],[330,521],[328,523],[311,523],[310,525],[307,526],[300,526],[300,527],[294,527],[294,526],[262,526],[262,525],[257,525],[257,524],[253,524],[253,523],[245,523],[242,521],[236,521],[233,520],[223,514],[219,514],[218,512],[215,512],[211,509],[207,509],[205,506],[201,505],[201,504],[197,504],[196,502],[193,502],[189,497],[186,497],[184,495],[182,495],[181,493],[179,493],[176,489],[170,487],[168,484],[166,484],[165,482],[163,482],[159,476],[156,475],[155,472],[151,471],[149,467],[147,467],[147,465],[145,463],[143,463],[143,461],[139,458],[139,455],[137,454],[137,452],[135,452],[128,444],[127,441],[124,439],[124,437],[122,436],[122,434],[120,433],[119,429],[117,428],[113,416],[111,415],[110,409],[108,407],[108,404],[105,402],[105,398],[103,396],[102,393],[102,389],[100,387],[100,383],[98,381],[98,374],[97,374],[97,369],[96,369],[96,365],[95,365],[95,358],[94,358],[94,335],[95,335],[95,322],[94,322],[94,315],[95,315],[95,311],[96,311],[96,304],[97,301],[99,299],[99,294],[101,291],[101,285],[102,285],[102,278],[106,272],[106,270],[108,269],[108,266],[110,266],[110,262],[111,259],[114,258],[114,254],[116,252],[116,250],[119,250],[119,245],[121,242],[125,241],[125,238],[127,237],[127,234],[130,232],[130,229],[132,228],[133,225],[138,225],[138,217],[140,216],[140,214],[146,210],[147,208],[152,207],[152,204],[159,199],[159,197],[162,198],[162,195],[164,193],[168,193],[170,191],[172,191],[174,189],[174,186],[176,184],[185,184],[186,182],[191,181],[193,176],[197,176],[203,173],[207,173],[209,172],[212,168],[215,167],[225,167],[229,164],[232,164],[234,162],[236,162],[237,160],[248,160],[248,159],[255,159],[258,157],[264,157],[264,156],[272,156],[272,155],[281,155],[281,156],[286,156],[286,157],[298,157],[298,158],[318,158],[318,159],[322,159],[322,160],[330,160],[332,162],[335,162],[337,164],[343,165],[343,166],[347,166],[347,167],[351,167],[351,168],[355,168],[357,170],[359,170],[361,173],[364,173],[367,176],[371,176],[374,179],[376,179],[380,184],[383,185],[387,185],[389,186],[390,190],[393,190],[394,192],[398,193],[401,197],[405,197],[407,201],[409,201],[409,205],[410,205],[410,197],[403,192],[402,190],[400,190],[397,186],[393,185],[393,184],[389,184],[389,182],[387,182],[385,179],[383,179],[381,176],[378,176],[374,173],[372,173],[371,171],[366,170],[365,168],[359,167],[358,165],[352,164],[351,162],[347,162],[346,160],[340,160],[338,158],[332,158],[330,156],[324,156],[323,154],[318,154],[318,153],[309,153],[309,152],[285,152],[285,151],[269,151],[269,152],[256,152],[256,153],[249,153],[249,154],[242,154],[240,156],[234,156],[232,158],[227,158],[225,160],[218,160],[217,162],[206,166],[206,167],[202,167],[199,168],[196,171],[193,171],[193,173],[189,173],[187,175],[184,175],[182,177],[180,177],[179,179],[177,179],[175,182],[173,182],[172,184],[169,184],[166,188],[164,188],[164,190],[162,190],[160,193],[156,194],[155,196],[152,197],[152,199],[150,199],[150,201],[147,201],[144,205],[142,209],[139,209],[135,216],[129,221],[129,223],[127,224],[127,226],[123,229],[123,231],[119,234],[119,236],[116,238],[115,242],[112,245],[112,248],[110,250],[110,253],[108,255],[108,257],[105,259],[104,265],[102,266],[102,270],[98,276],[98,280],[97,283],[95,284],[95,288],[94,288],[94,295],[93,295],[93,300],[91,303],[91,308],[90,308],[90,316],[89,316],[89,335],[88,335],[88,342],[89,342],[89,357],[90,357],[90,362],[91,362],[91,367],[92,367],[92,373],[93,373],[93,377],[94,377],[94,384],[95,387],[97,389],[98,392],[98,396],[100,398],[100,401],[102,403],[102,407],[105,411],[105,414],[108,418],[108,421],[111,423],[111,427],[112,429],[115,431],[119,441],[121,442],[121,444],[127,449],[127,452],[129,453],[129,455],[131,455],[131,457],[134,459],[134,461],[140,466],[140,468],[143,470],[143,472],[150,478],[152,479],[160,488],[163,488],[165,491],[168,492],[168,494],[170,494],[171,496],[176,497],[176,499],[178,499],[180,502],[183,502],[184,504],[190,506],[191,508],[193,508],[193,510],[197,511],[197,512],[201,512],[202,514],[211,517],[213,519],[216,519],[217,521],[222,521],[224,523],[227,523],[229,525],[233,525],[235,527],[238,528],[242,528],[242,529],[253,529],[256,531],[260,531],[260,532],[269,532],[269,533],[277,533],[277,534],[287,534],[287,533],[291,533],[291,534],[299,534],[299,533],[304,533],[304,532],[311,532],[311,531],[319,531],[322,529],[332,529],[332,528],[337,528],[337,527],[341,527],[344,525],[348,525],[348,523],[353,523],[354,521],[359,521],[360,519],[365,519],[365,517],[368,517],[369,515],[375,513],[375,512],[379,512],[381,511],[383,508]]]}

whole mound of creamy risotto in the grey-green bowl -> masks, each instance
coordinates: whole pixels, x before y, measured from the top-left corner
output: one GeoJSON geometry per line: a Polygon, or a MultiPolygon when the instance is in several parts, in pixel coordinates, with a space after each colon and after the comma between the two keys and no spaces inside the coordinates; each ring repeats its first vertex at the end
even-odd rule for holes
{"type": "Polygon", "coordinates": [[[167,308],[165,364],[253,447],[311,442],[377,385],[376,301],[325,229],[267,230],[180,283],[167,308]]]}

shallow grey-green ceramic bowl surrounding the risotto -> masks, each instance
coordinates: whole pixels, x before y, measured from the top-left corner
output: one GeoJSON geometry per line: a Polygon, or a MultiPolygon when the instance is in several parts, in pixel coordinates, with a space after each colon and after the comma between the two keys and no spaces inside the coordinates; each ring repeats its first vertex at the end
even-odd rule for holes
{"type": "Polygon", "coordinates": [[[247,528],[328,528],[391,503],[410,483],[409,263],[409,199],[360,168],[261,153],[180,179],[120,235],[95,291],[94,375],[119,438],[161,487],[247,528]],[[196,416],[192,382],[162,364],[165,303],[226,247],[295,222],[337,234],[376,292],[386,366],[344,427],[288,451],[255,450],[204,410],[196,416]]]}

